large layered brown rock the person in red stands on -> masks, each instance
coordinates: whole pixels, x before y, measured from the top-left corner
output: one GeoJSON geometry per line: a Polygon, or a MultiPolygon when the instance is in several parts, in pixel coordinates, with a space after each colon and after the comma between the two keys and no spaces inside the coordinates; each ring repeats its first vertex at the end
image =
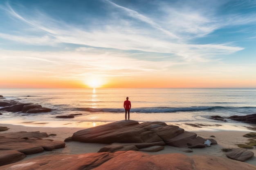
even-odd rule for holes
{"type": "MultiPolygon", "coordinates": [[[[164,122],[144,122],[139,124],[137,121],[116,121],[85,130],[79,130],[72,136],[72,140],[85,143],[131,143],[138,149],[154,145],[169,145],[175,147],[198,148],[198,144],[204,146],[202,137],[197,137],[195,133],[185,132],[179,126],[167,125],[164,122]],[[159,144],[160,142],[160,144],[159,144]],[[139,145],[143,144],[143,146],[139,145]]],[[[211,139],[214,141],[214,139],[211,139]]],[[[119,146],[128,146],[128,144],[119,144],[119,146]]],[[[108,146],[109,151],[115,150],[117,144],[108,146]]],[[[121,148],[121,147],[120,147],[121,148]]],[[[123,148],[121,148],[123,150],[123,148]]],[[[106,152],[108,150],[104,150],[106,152]]]]}

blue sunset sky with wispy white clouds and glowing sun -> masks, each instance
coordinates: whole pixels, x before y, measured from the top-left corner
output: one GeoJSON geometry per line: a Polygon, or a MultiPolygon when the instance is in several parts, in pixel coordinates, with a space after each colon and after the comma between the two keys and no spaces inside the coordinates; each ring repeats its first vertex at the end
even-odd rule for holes
{"type": "Polygon", "coordinates": [[[256,88],[256,0],[0,0],[0,88],[256,88]]]}

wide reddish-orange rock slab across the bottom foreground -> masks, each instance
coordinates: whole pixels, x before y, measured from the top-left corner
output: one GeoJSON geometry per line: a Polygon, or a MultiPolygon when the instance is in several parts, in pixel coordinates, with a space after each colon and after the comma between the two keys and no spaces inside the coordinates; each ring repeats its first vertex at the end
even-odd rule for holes
{"type": "Polygon", "coordinates": [[[45,155],[1,166],[0,170],[255,170],[248,163],[207,155],[150,155],[138,151],[45,155]]]}

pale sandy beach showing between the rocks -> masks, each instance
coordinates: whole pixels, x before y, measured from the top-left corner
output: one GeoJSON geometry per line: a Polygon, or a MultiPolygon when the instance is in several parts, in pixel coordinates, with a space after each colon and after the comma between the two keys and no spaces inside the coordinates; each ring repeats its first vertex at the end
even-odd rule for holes
{"type": "MultiPolygon", "coordinates": [[[[67,121],[68,122],[68,121],[67,121]]],[[[53,140],[64,141],[67,137],[71,137],[74,132],[78,130],[82,130],[85,128],[90,128],[93,126],[99,126],[101,124],[106,124],[109,122],[76,122],[72,124],[67,124],[66,121],[61,121],[56,124],[56,122],[25,122],[25,125],[21,125],[20,123],[16,122],[16,124],[0,124],[0,126],[7,126],[10,128],[7,131],[3,131],[0,133],[5,132],[19,132],[19,131],[40,131],[40,132],[47,132],[48,135],[56,134],[56,136],[49,136],[53,140]]],[[[225,123],[218,123],[218,124],[209,124],[209,122],[202,123],[193,123],[187,124],[182,122],[173,123],[174,125],[180,126],[184,128],[186,131],[195,132],[198,136],[203,138],[211,138],[210,136],[215,136],[215,139],[218,142],[218,145],[211,145],[210,147],[206,148],[193,148],[193,152],[184,152],[185,150],[191,150],[189,148],[177,148],[172,146],[165,146],[164,150],[158,152],[148,152],[150,154],[166,154],[166,153],[182,153],[184,155],[212,155],[218,157],[226,157],[225,152],[223,152],[222,148],[238,148],[237,144],[244,144],[247,142],[248,138],[243,137],[243,135],[249,132],[255,132],[249,130],[248,127],[252,127],[249,124],[225,124],[225,123]],[[194,125],[194,126],[193,126],[194,125]],[[196,126],[195,126],[196,125],[196,126]],[[199,127],[199,125],[201,125],[199,127]],[[202,126],[203,125],[203,126],[202,126]]],[[[91,152],[98,152],[100,148],[106,146],[107,144],[88,144],[88,143],[81,143],[76,141],[66,142],[66,147],[62,149],[53,150],[51,152],[45,151],[39,154],[34,155],[27,155],[24,160],[30,159],[32,157],[37,157],[39,155],[58,155],[58,154],[82,154],[82,153],[91,153],[91,152]]],[[[256,148],[250,149],[256,155],[256,148]]],[[[256,165],[256,157],[252,157],[245,161],[246,163],[250,163],[256,165]]]]}

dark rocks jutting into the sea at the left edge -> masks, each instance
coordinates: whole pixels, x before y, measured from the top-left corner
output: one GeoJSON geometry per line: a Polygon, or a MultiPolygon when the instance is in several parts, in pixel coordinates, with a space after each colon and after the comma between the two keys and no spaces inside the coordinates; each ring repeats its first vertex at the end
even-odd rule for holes
{"type": "Polygon", "coordinates": [[[22,113],[42,113],[42,112],[50,112],[52,109],[44,108],[39,104],[33,103],[21,103],[14,100],[5,100],[0,101],[0,110],[9,111],[9,112],[21,112],[22,113]]]}

